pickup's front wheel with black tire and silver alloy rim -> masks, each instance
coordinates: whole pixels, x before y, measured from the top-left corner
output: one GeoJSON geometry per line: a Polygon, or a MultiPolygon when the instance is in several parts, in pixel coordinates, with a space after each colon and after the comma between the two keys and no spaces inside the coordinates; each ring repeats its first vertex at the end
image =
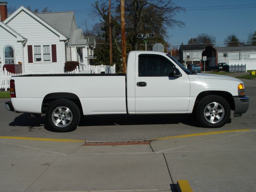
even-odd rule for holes
{"type": "Polygon", "coordinates": [[[230,120],[230,105],[221,96],[208,95],[198,103],[196,115],[203,127],[221,127],[230,120]]]}

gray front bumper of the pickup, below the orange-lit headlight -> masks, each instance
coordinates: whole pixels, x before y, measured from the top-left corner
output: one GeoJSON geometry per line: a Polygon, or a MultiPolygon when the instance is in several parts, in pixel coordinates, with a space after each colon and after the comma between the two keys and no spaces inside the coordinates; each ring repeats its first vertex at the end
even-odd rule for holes
{"type": "Polygon", "coordinates": [[[233,98],[234,98],[234,102],[235,102],[234,116],[241,116],[249,108],[249,97],[248,96],[243,96],[243,97],[235,96],[233,98]]]}

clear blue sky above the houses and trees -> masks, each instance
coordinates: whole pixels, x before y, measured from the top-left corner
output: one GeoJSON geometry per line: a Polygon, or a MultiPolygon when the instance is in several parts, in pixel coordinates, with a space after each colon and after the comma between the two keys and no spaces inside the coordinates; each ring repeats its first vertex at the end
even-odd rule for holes
{"type": "MultiPolygon", "coordinates": [[[[76,23],[84,28],[82,23],[87,22],[88,28],[99,22],[93,18],[91,4],[95,0],[5,0],[8,7],[31,6],[41,11],[48,7],[52,12],[74,11],[76,23]]],[[[166,41],[172,46],[187,44],[190,38],[206,33],[216,38],[216,46],[225,46],[224,39],[235,34],[240,42],[246,42],[249,33],[256,31],[256,1],[255,0],[173,0],[186,9],[179,12],[175,19],[185,23],[183,28],[168,28],[166,41]]],[[[146,33],[146,32],[145,32],[146,33]]]]}

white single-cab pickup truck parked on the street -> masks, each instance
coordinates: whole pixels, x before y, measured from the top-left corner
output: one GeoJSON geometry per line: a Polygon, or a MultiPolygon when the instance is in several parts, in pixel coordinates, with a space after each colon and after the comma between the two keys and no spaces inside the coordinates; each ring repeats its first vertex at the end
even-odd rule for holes
{"type": "Polygon", "coordinates": [[[46,126],[74,130],[80,117],[97,114],[192,114],[208,128],[223,126],[248,110],[241,80],[196,74],[163,52],[132,51],[127,74],[13,76],[15,112],[46,116],[46,126]]]}

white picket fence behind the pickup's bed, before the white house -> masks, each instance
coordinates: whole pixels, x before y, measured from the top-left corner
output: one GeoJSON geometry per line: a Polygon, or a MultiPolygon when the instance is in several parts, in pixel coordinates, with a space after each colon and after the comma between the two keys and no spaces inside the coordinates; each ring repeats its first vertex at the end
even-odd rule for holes
{"type": "Polygon", "coordinates": [[[100,73],[105,73],[105,74],[115,74],[116,73],[116,65],[114,66],[104,66],[104,65],[98,65],[98,66],[86,66],[86,65],[80,65],[76,67],[75,70],[70,71],[70,72],[60,72],[54,69],[52,67],[51,70],[48,72],[40,73],[40,72],[35,72],[33,70],[26,70],[23,73],[20,74],[14,74],[10,73],[4,68],[4,70],[0,71],[0,89],[7,91],[7,89],[10,88],[10,79],[12,76],[21,76],[21,75],[29,75],[29,74],[100,74],[100,73]]]}

